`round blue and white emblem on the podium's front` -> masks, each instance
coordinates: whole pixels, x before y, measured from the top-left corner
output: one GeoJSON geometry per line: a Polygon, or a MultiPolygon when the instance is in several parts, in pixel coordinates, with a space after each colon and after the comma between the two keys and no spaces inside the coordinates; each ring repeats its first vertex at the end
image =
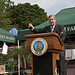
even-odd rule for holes
{"type": "Polygon", "coordinates": [[[41,56],[46,53],[47,48],[47,42],[43,38],[36,38],[31,43],[31,51],[36,56],[41,56]]]}

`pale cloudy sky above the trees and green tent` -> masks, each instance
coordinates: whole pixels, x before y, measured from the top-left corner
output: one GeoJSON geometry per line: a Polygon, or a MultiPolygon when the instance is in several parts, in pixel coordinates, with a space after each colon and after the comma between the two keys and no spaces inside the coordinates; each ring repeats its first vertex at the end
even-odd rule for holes
{"type": "Polygon", "coordinates": [[[15,5],[18,3],[30,3],[31,5],[38,4],[38,6],[50,14],[57,14],[60,10],[75,7],[75,0],[11,0],[15,5]]]}

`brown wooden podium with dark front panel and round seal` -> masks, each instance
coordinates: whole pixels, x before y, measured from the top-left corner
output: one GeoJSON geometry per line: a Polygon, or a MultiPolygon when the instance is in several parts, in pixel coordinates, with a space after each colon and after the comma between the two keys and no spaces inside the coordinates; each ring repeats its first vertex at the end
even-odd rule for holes
{"type": "Polygon", "coordinates": [[[59,35],[57,33],[51,32],[25,35],[25,37],[26,48],[32,53],[32,75],[54,75],[56,60],[59,60],[59,53],[64,49],[59,35]],[[46,51],[44,53],[43,51],[39,53],[37,53],[35,50],[32,51],[34,48],[33,44],[39,40],[41,41],[40,38],[46,42],[43,46],[47,47],[45,48],[46,51]]]}

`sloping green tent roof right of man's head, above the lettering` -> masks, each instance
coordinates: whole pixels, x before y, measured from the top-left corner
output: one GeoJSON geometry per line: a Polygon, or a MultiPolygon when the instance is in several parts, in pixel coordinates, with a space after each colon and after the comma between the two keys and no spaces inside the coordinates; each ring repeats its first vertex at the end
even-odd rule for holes
{"type": "Polygon", "coordinates": [[[75,7],[63,9],[56,14],[58,24],[70,25],[75,24],[75,7]]]}

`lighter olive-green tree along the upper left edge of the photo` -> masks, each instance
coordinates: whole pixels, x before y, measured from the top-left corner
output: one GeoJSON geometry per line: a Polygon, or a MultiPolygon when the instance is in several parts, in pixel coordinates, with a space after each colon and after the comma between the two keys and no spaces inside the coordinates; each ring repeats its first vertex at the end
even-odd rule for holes
{"type": "Polygon", "coordinates": [[[7,25],[11,24],[11,20],[7,17],[6,9],[8,7],[8,1],[10,0],[0,0],[0,28],[8,30],[7,25]]]}

